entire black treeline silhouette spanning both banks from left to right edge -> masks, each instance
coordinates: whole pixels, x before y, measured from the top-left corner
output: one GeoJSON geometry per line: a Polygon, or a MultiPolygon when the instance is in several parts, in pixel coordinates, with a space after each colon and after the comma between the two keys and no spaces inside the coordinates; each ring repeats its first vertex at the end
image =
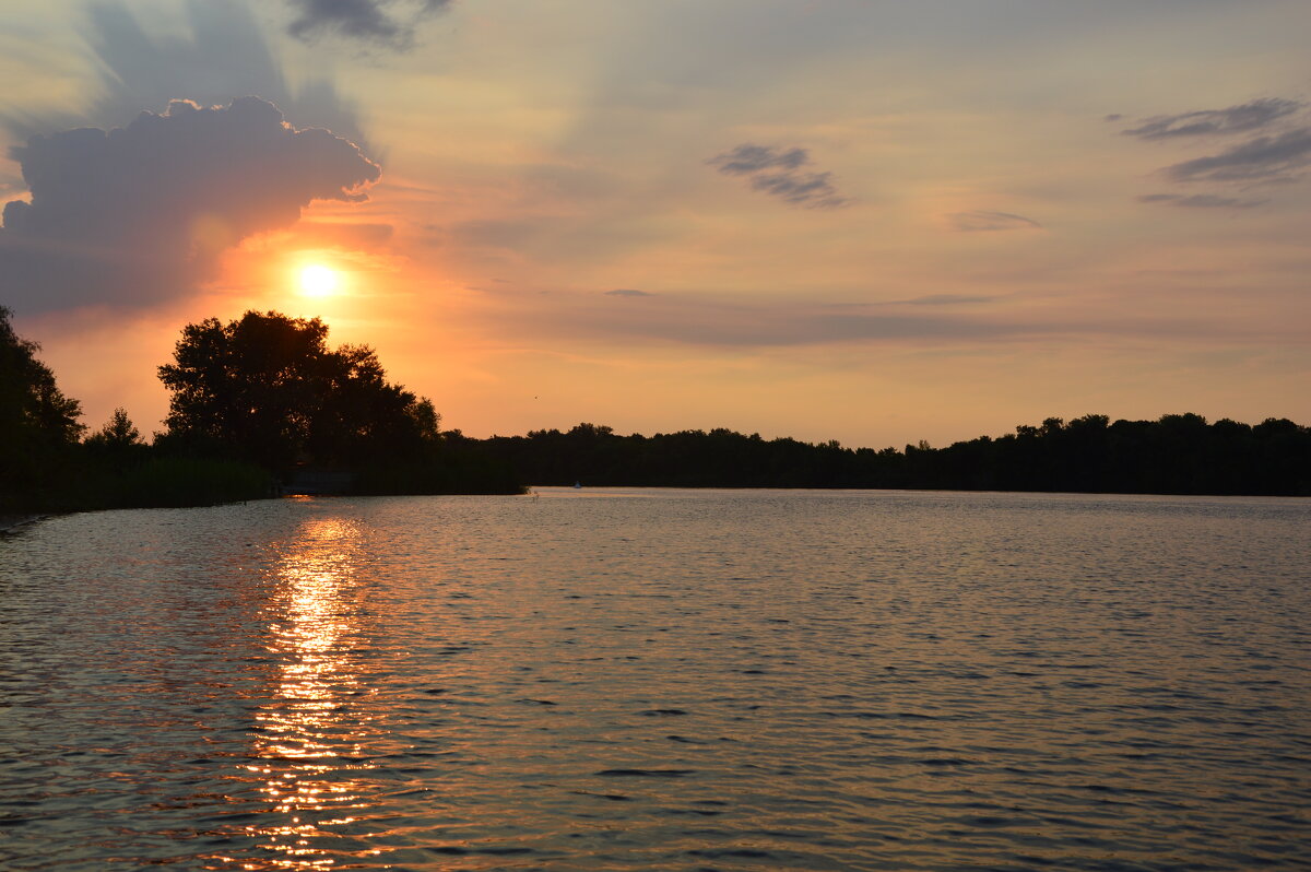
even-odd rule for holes
{"type": "Polygon", "coordinates": [[[944,448],[846,448],[732,430],[472,439],[426,397],[387,382],[367,346],[330,349],[317,319],[246,312],[189,324],[165,429],[147,442],[123,409],[90,434],[0,307],[0,515],[191,506],[274,496],[305,471],[346,492],[520,493],[523,484],[682,488],[932,488],[1311,496],[1311,430],[1197,414],[1047,418],[944,448]]]}

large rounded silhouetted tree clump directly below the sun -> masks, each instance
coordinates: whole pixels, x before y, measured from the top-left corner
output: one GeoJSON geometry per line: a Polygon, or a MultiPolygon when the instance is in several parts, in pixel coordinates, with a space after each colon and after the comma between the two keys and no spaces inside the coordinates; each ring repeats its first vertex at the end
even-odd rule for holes
{"type": "Polygon", "coordinates": [[[404,456],[435,438],[431,401],[388,383],[372,349],[332,350],[326,336],[319,319],[279,312],[186,325],[159,368],[165,442],[281,469],[404,456]]]}

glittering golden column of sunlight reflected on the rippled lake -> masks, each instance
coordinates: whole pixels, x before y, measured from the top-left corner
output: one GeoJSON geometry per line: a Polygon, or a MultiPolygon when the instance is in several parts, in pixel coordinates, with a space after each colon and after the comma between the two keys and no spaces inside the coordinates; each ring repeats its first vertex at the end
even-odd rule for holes
{"type": "Polygon", "coordinates": [[[254,762],[246,764],[266,805],[244,827],[265,858],[228,858],[240,868],[332,868],[340,851],[326,850],[325,839],[340,839],[371,808],[370,740],[382,730],[358,705],[374,692],[355,656],[367,649],[359,539],[349,521],[307,521],[275,566],[267,650],[278,684],[254,716],[254,762]]]}

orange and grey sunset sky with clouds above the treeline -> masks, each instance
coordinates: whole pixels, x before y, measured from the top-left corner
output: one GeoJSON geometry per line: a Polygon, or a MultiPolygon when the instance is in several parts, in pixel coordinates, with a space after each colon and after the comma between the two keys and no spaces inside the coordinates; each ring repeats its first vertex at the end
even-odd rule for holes
{"type": "Polygon", "coordinates": [[[252,308],[476,437],[1307,424],[1307,33],[1306,0],[12,0],[0,304],[93,427],[160,429],[181,328],[252,308]]]}

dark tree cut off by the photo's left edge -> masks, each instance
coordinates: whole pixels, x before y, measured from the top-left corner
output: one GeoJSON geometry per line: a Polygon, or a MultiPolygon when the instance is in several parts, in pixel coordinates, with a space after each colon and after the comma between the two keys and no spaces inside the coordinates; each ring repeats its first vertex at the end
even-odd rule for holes
{"type": "Polygon", "coordinates": [[[87,427],[81,406],[37,359],[41,346],[20,338],[0,306],[0,506],[30,505],[87,427]]]}

